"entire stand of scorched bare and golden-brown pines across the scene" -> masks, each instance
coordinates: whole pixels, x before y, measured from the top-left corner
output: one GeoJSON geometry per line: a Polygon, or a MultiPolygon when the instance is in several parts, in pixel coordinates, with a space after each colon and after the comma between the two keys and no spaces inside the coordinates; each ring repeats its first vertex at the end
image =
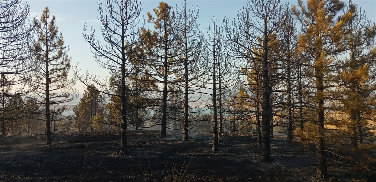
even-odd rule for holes
{"type": "Polygon", "coordinates": [[[160,2],[144,22],[138,0],[101,2],[101,37],[86,25],[83,37],[105,79],[79,67],[68,76],[69,48],[47,7],[28,22],[27,4],[0,3],[0,140],[45,134],[51,147],[61,132],[114,131],[124,155],[127,130],[178,131],[183,142],[209,131],[213,151],[238,132],[254,134],[269,162],[280,135],[300,151],[316,145],[318,178],[329,148],[376,140],[376,25],[351,1],[248,1],[206,33],[186,2],[160,2]],[[86,90],[64,116],[76,79],[86,90]]]}

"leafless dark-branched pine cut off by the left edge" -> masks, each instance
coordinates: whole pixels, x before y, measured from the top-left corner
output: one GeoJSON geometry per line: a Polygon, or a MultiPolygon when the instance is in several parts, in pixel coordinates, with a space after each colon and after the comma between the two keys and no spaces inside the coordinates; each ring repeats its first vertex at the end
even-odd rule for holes
{"type": "MultiPolygon", "coordinates": [[[[30,72],[29,42],[32,40],[33,25],[28,24],[30,6],[21,0],[5,0],[0,3],[0,114],[7,110],[9,100],[26,95],[31,91],[28,80],[30,72]]],[[[19,106],[20,108],[23,106],[19,106]]],[[[11,120],[0,119],[0,139],[11,136],[8,124],[11,120]]],[[[19,134],[19,133],[17,133],[19,134]]]]}

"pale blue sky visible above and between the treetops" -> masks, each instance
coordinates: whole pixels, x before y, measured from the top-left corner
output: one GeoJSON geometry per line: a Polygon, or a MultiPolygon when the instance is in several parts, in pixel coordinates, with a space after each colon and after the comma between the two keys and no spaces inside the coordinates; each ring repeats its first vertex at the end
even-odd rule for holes
{"type": "MultiPolygon", "coordinates": [[[[146,18],[147,12],[152,12],[153,8],[158,6],[161,0],[140,0],[142,12],[141,16],[146,18]]],[[[90,51],[90,46],[82,36],[84,24],[91,26],[100,33],[101,25],[97,19],[99,12],[98,0],[23,0],[23,3],[30,5],[30,19],[35,16],[40,16],[44,8],[47,6],[50,9],[51,15],[56,16],[56,25],[59,27],[59,32],[64,37],[66,46],[69,46],[68,53],[71,57],[71,65],[77,66],[82,73],[86,71],[91,74],[97,74],[103,77],[109,76],[107,70],[101,68],[95,62],[90,51]]],[[[105,4],[105,0],[99,2],[105,4]]],[[[182,7],[183,0],[165,0],[170,6],[182,7]]],[[[209,24],[212,24],[211,19],[215,16],[217,24],[222,25],[225,16],[232,20],[236,17],[239,10],[246,6],[246,0],[187,0],[188,7],[194,6],[197,9],[199,6],[199,20],[200,27],[206,32],[209,24]]],[[[345,1],[348,3],[348,1],[345,1]]],[[[282,3],[297,4],[297,0],[282,0],[282,3]]],[[[370,21],[376,21],[376,0],[353,0],[353,3],[358,4],[362,10],[367,12],[370,21]]],[[[153,13],[152,13],[153,14],[153,13]]],[[[100,36],[100,34],[97,34],[100,36]]],[[[73,70],[70,75],[73,76],[73,70]]],[[[85,87],[82,83],[76,83],[76,89],[82,95],[85,87]]]]}

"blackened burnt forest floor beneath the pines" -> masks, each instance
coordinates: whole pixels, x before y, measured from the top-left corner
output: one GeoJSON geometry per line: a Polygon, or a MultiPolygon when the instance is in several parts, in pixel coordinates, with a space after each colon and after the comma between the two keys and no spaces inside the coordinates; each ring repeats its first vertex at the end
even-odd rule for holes
{"type": "MultiPolygon", "coordinates": [[[[317,179],[314,146],[299,152],[299,144],[288,144],[284,137],[271,140],[270,163],[259,162],[261,149],[251,136],[223,136],[219,151],[213,152],[209,133],[192,134],[183,143],[181,135],[160,138],[157,131],[130,131],[125,156],[118,155],[119,140],[120,135],[105,133],[57,136],[51,150],[42,138],[3,140],[0,181],[165,182],[182,173],[185,182],[376,181],[376,166],[349,166],[336,155],[329,157],[329,178],[317,179]]],[[[358,154],[371,158],[375,153],[358,154]]]]}

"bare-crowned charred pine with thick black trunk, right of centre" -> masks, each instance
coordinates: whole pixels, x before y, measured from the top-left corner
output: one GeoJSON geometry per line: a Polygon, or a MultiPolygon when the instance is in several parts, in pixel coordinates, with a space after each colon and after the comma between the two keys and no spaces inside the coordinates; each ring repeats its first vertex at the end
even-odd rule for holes
{"type": "Polygon", "coordinates": [[[230,40],[229,49],[235,57],[258,59],[261,62],[262,76],[262,127],[261,127],[261,161],[270,161],[270,96],[272,91],[269,68],[276,59],[273,53],[275,40],[282,38],[283,25],[287,10],[279,0],[249,1],[238,13],[238,22],[230,25],[225,19],[224,27],[230,40]],[[252,17],[252,18],[251,18],[252,17]],[[256,21],[253,19],[256,18],[256,21]],[[254,51],[255,46],[262,54],[254,51]]]}

